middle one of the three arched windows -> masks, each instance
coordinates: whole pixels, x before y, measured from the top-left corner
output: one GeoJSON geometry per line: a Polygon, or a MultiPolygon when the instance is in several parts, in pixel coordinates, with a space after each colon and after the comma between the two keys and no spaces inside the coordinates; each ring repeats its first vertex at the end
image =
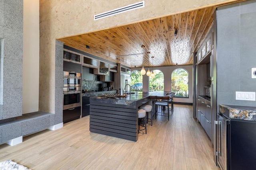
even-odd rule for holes
{"type": "Polygon", "coordinates": [[[154,77],[149,76],[149,91],[164,91],[164,74],[160,70],[154,70],[154,77]]]}

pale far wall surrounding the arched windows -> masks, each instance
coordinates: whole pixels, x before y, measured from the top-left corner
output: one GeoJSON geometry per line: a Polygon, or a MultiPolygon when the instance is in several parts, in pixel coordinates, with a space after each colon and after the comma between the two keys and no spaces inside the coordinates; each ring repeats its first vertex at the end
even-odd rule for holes
{"type": "MultiPolygon", "coordinates": [[[[193,103],[193,66],[164,66],[164,67],[154,67],[154,70],[160,70],[164,74],[164,91],[171,91],[171,75],[172,71],[176,68],[184,68],[188,71],[188,96],[189,98],[174,98],[174,102],[182,102],[182,103],[193,103]]],[[[133,70],[140,71],[141,68],[132,68],[133,70]]],[[[145,67],[145,70],[148,70],[148,68],[145,67]]],[[[150,71],[152,71],[152,68],[150,68],[150,71]]],[[[145,74],[143,75],[143,92],[148,92],[148,81],[149,77],[145,74]]]]}

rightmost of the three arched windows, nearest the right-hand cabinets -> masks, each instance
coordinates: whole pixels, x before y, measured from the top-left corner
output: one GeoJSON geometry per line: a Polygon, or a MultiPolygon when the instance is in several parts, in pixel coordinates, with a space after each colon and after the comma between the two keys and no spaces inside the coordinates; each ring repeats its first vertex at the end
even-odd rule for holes
{"type": "Polygon", "coordinates": [[[172,72],[172,92],[175,97],[188,98],[188,71],[184,68],[177,68],[172,72]]]}

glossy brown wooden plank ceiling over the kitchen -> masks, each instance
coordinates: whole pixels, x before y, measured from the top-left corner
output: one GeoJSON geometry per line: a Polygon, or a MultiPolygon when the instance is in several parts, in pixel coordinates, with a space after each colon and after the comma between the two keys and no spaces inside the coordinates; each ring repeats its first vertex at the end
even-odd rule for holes
{"type": "Polygon", "coordinates": [[[131,68],[142,67],[142,64],[145,67],[192,65],[192,53],[200,47],[211,28],[214,10],[208,7],[58,40],[131,68]],[[178,30],[177,36],[174,36],[175,30],[178,30]]]}

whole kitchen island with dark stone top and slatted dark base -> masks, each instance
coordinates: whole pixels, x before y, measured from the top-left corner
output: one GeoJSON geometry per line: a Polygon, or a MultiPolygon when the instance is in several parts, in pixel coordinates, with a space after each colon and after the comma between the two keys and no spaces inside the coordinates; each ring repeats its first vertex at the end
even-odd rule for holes
{"type": "Polygon", "coordinates": [[[90,131],[112,137],[138,140],[138,110],[143,104],[152,104],[151,117],[155,110],[150,96],[165,96],[168,92],[138,92],[126,97],[90,98],[90,131]]]}

